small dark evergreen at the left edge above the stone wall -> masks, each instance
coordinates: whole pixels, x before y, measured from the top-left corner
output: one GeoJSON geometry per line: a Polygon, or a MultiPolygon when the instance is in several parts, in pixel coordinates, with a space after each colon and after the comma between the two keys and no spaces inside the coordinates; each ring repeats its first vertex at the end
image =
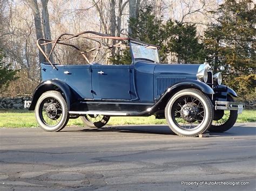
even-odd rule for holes
{"type": "Polygon", "coordinates": [[[4,53],[0,49],[0,90],[8,87],[10,81],[15,80],[16,71],[9,70],[9,65],[6,65],[3,61],[4,53]]]}

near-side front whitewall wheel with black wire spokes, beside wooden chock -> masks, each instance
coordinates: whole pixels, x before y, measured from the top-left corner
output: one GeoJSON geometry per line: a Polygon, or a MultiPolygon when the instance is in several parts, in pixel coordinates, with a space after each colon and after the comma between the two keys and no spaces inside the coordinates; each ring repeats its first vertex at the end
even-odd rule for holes
{"type": "Polygon", "coordinates": [[[174,94],[167,103],[165,118],[177,135],[196,137],[212,124],[213,105],[201,91],[184,89],[174,94]]]}

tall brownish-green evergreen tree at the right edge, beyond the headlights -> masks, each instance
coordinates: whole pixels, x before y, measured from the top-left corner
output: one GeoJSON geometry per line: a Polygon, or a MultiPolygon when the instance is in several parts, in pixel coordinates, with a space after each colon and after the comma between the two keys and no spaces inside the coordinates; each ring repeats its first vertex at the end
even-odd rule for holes
{"type": "Polygon", "coordinates": [[[251,0],[227,0],[213,11],[218,15],[205,32],[204,44],[214,71],[223,70],[226,83],[234,90],[247,87],[240,96],[253,98],[255,67],[255,6],[251,0]],[[234,83],[235,82],[235,83],[234,83]]]}

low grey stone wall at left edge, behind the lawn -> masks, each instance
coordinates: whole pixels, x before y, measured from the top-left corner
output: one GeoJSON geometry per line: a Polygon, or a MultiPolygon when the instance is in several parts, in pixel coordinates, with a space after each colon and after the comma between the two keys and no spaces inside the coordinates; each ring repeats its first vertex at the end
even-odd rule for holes
{"type": "Polygon", "coordinates": [[[17,97],[0,97],[0,109],[25,109],[25,101],[29,101],[31,99],[31,95],[17,97]]]}

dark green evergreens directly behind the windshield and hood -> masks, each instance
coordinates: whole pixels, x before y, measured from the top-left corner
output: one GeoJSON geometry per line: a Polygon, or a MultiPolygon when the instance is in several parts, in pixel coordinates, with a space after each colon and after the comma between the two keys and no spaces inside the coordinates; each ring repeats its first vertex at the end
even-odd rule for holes
{"type": "MultiPolygon", "coordinates": [[[[131,38],[159,46],[160,62],[167,62],[170,52],[177,54],[179,63],[202,63],[204,47],[198,41],[196,26],[158,18],[152,6],[139,9],[138,18],[130,18],[131,38]]],[[[131,63],[130,52],[122,51],[111,59],[114,63],[131,63]]]]}

